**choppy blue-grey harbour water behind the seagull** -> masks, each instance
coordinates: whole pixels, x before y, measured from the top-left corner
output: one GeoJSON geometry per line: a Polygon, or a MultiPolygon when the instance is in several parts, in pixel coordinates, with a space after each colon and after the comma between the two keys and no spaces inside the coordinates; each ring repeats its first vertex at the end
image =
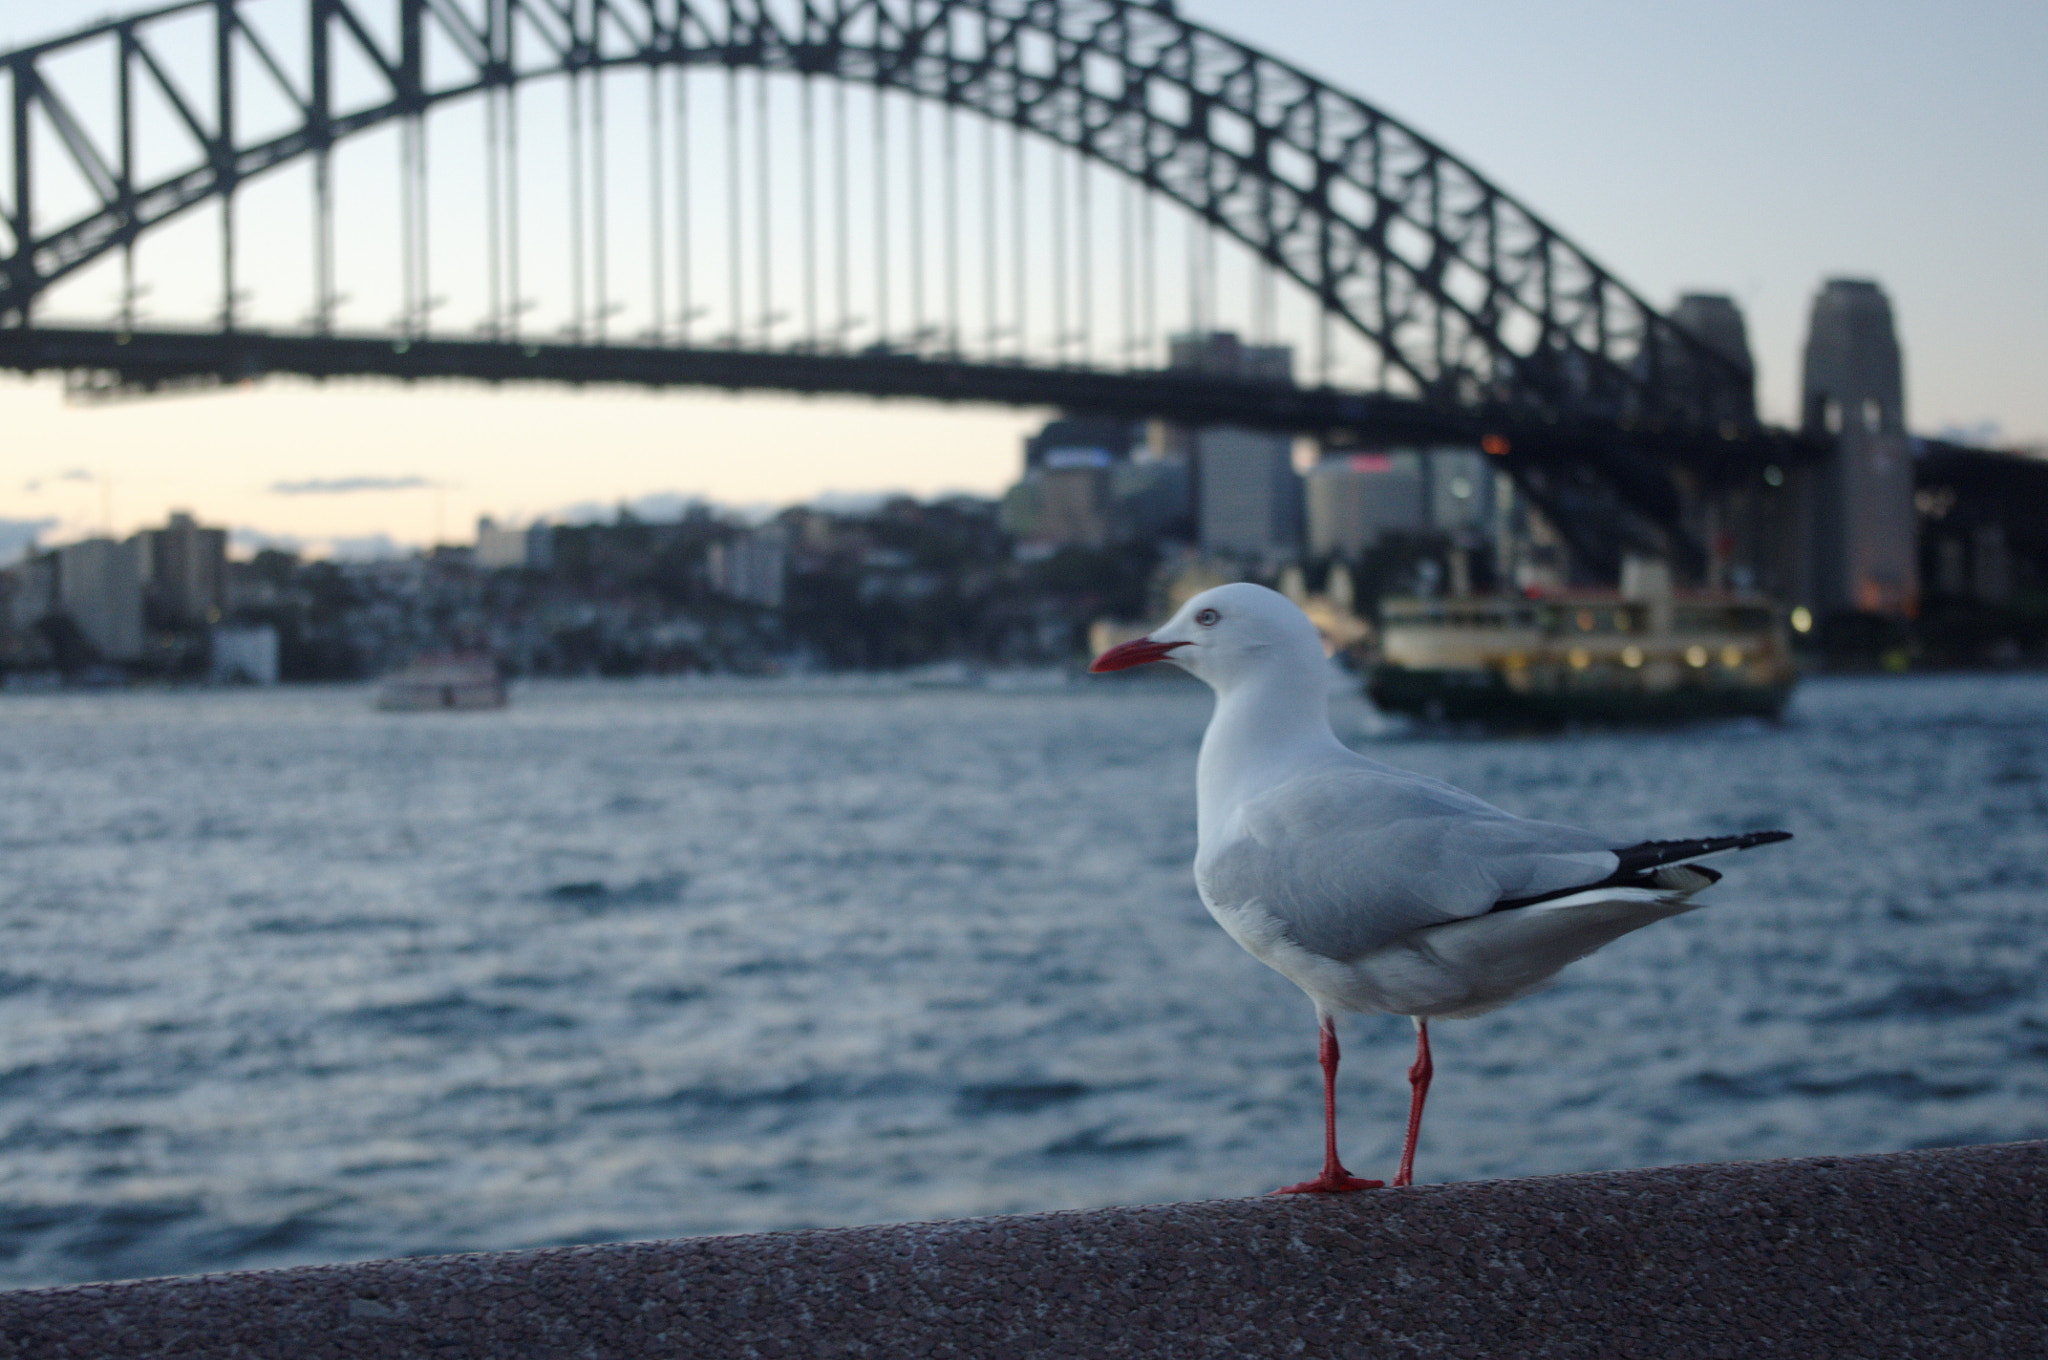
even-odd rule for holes
{"type": "MultiPolygon", "coordinates": [[[[0,1284],[1231,1196],[1313,1018],[1204,916],[1206,690],[0,700],[0,1284]]],[[[1438,1026],[1421,1176],[2048,1135],[2048,680],[1784,727],[1339,731],[1618,836],[1784,825],[1714,907],[1438,1026]]],[[[1346,1024],[1399,1145],[1409,1030],[1346,1024]]]]}

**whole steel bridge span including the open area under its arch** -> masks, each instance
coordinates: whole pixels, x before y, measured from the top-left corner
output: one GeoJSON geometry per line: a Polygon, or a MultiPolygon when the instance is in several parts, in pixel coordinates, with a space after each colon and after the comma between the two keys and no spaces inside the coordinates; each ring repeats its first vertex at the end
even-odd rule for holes
{"type": "Polygon", "coordinates": [[[1444,147],[1128,0],[188,0],[4,53],[0,365],[1491,432],[1599,559],[1802,453],[1444,147]]]}

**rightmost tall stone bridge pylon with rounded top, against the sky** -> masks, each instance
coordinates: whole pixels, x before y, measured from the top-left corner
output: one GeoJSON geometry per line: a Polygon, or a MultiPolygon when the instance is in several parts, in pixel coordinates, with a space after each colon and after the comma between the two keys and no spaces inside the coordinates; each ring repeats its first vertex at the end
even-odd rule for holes
{"type": "Polygon", "coordinates": [[[1892,305],[1866,279],[1829,279],[1812,299],[1800,424],[1831,438],[1810,498],[1808,604],[1911,614],[1919,604],[1913,543],[1913,447],[1892,305]]]}

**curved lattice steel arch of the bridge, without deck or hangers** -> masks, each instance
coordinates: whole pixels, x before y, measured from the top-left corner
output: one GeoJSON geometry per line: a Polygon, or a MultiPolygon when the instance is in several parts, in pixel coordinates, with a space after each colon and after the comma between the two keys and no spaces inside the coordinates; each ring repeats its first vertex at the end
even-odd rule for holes
{"type": "MultiPolygon", "coordinates": [[[[186,0],[0,55],[14,174],[0,186],[0,324],[143,231],[285,162],[416,119],[436,104],[606,68],[717,66],[825,76],[975,111],[1059,143],[1184,205],[1364,336],[1384,383],[1446,408],[1548,420],[1749,434],[1751,375],[1624,287],[1468,164],[1380,109],[1221,33],[1130,0],[393,0],[393,39],[360,0],[305,0],[303,78],[242,20],[236,0],[186,0]],[[182,90],[156,25],[213,16],[213,107],[182,90]],[[119,109],[102,143],[53,61],[115,47],[119,109]],[[438,72],[428,45],[444,53],[438,72]],[[336,109],[340,45],[369,59],[379,96],[336,109]],[[236,135],[238,68],[264,72],[301,115],[281,135],[236,135]],[[201,150],[152,182],[131,174],[135,100],[152,84],[201,150]],[[98,207],[43,223],[31,117],[47,123],[98,207]]],[[[223,311],[231,311],[223,307],[223,311]]],[[[231,315],[227,317],[231,326],[231,315]]]]}

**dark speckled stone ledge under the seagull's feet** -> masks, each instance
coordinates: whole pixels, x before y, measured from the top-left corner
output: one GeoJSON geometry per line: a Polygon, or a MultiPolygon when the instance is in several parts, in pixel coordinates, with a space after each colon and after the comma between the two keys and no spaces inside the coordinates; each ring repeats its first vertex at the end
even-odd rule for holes
{"type": "Polygon", "coordinates": [[[0,1356],[2042,1356],[2048,1143],[0,1294],[0,1356]]]}

